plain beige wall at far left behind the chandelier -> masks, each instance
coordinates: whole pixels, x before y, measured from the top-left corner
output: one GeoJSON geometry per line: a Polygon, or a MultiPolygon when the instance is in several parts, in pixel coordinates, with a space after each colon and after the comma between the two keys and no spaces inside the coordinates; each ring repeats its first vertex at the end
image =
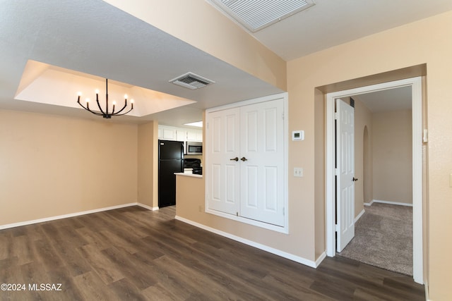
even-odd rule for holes
{"type": "Polygon", "coordinates": [[[0,226],[136,202],[137,126],[0,111],[0,226]]]}

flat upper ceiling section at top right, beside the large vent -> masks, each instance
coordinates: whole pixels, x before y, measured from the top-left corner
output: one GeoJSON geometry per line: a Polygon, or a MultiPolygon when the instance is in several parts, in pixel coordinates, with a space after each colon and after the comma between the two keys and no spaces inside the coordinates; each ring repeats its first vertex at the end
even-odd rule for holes
{"type": "Polygon", "coordinates": [[[256,33],[286,61],[452,10],[451,0],[314,0],[315,5],[256,33]]]}

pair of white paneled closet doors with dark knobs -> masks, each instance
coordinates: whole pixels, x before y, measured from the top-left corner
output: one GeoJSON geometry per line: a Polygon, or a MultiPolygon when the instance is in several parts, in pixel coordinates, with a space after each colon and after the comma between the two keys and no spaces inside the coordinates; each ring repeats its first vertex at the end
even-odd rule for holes
{"type": "Polygon", "coordinates": [[[206,112],[206,208],[285,227],[285,98],[206,112]]]}

